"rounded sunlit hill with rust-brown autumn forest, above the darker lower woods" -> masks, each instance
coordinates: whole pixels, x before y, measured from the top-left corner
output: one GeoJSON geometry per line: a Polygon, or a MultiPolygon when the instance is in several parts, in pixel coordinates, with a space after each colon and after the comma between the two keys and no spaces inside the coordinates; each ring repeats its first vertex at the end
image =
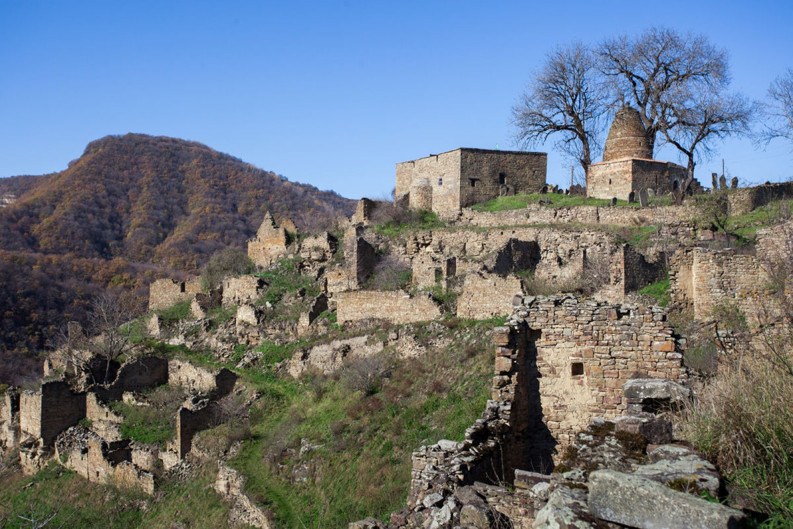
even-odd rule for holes
{"type": "Polygon", "coordinates": [[[91,142],[66,171],[0,180],[0,247],[158,263],[195,271],[243,247],[269,209],[350,215],[354,202],[286,181],[195,142],[127,134],[91,142]],[[24,179],[24,182],[21,182],[24,179]]]}

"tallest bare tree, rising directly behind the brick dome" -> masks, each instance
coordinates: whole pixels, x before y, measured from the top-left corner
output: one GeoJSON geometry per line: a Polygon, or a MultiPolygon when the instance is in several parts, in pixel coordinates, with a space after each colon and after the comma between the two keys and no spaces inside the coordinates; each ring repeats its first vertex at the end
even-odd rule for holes
{"type": "Polygon", "coordinates": [[[637,107],[653,151],[657,133],[674,126],[663,119],[673,105],[671,94],[683,85],[698,91],[730,81],[727,52],[704,35],[653,27],[637,36],[607,39],[598,53],[614,102],[637,107]]]}

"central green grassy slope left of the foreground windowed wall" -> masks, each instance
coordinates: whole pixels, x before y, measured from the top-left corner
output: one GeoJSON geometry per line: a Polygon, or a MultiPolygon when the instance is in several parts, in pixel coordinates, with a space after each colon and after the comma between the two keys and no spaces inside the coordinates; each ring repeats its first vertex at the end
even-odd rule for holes
{"type": "Polygon", "coordinates": [[[462,439],[485,409],[492,347],[484,333],[467,331],[481,323],[460,325],[455,335],[469,338],[421,358],[393,361],[389,380],[368,397],[343,376],[266,381],[267,397],[251,410],[251,439],[232,466],[246,474],[246,492],[275,513],[278,527],[386,519],[404,503],[412,450],[462,439]],[[302,461],[282,456],[285,448],[299,449],[304,438],[323,446],[302,461]],[[314,469],[313,477],[293,483],[289,476],[301,463],[314,469]]]}

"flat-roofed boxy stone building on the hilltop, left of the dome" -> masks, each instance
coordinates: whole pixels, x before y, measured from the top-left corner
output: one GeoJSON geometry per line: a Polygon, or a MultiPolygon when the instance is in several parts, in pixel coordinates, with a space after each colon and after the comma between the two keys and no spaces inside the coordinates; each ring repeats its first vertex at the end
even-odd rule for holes
{"type": "Polygon", "coordinates": [[[545,152],[459,148],[397,163],[397,199],[411,209],[455,217],[465,206],[502,195],[538,193],[546,183],[545,152]]]}

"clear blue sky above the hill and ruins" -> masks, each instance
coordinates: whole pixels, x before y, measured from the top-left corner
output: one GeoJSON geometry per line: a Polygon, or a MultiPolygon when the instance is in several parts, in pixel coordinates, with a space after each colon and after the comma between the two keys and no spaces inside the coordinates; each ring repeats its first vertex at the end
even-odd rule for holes
{"type": "MultiPolygon", "coordinates": [[[[793,2],[37,2],[0,0],[0,176],[61,171],[91,140],[196,140],[346,197],[394,164],[515,148],[511,106],[556,44],[650,25],[705,33],[733,87],[762,98],[793,67],[793,2]]],[[[569,182],[550,151],[549,181],[569,182]]],[[[793,175],[791,145],[724,144],[697,166],[793,175]]],[[[661,151],[660,159],[676,159],[661,151]]]]}

